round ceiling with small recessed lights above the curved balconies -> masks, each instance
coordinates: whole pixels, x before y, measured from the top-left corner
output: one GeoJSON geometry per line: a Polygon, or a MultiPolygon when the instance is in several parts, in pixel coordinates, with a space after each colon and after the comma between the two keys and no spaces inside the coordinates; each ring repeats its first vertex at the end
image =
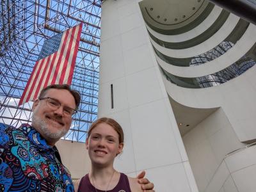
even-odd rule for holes
{"type": "Polygon", "coordinates": [[[173,30],[188,26],[199,15],[210,13],[213,5],[206,0],[144,0],[140,2],[143,17],[158,29],[173,30]],[[207,13],[204,11],[207,10],[207,13]]]}

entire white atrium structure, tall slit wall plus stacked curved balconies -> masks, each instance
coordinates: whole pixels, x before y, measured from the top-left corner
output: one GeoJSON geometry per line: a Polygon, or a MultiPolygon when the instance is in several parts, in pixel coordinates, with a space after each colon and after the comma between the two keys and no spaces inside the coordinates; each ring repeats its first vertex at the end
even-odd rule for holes
{"type": "Polygon", "coordinates": [[[193,1],[201,10],[191,23],[175,28],[181,15],[159,24],[173,2],[102,4],[99,117],[125,131],[115,166],[131,176],[147,170],[156,191],[253,191],[255,147],[243,147],[256,139],[256,27],[207,1],[193,1]],[[168,97],[214,112],[177,117],[168,97]],[[186,134],[182,120],[195,124],[186,134]]]}

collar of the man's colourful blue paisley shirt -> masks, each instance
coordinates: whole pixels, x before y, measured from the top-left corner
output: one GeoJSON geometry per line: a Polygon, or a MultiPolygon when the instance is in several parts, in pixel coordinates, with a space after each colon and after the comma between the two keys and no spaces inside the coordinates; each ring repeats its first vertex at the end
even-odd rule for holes
{"type": "Polygon", "coordinates": [[[20,125],[20,129],[28,136],[29,141],[34,143],[36,146],[42,149],[49,149],[52,148],[50,145],[47,144],[46,140],[41,136],[41,134],[36,131],[34,127],[29,124],[22,124],[20,125]]]}

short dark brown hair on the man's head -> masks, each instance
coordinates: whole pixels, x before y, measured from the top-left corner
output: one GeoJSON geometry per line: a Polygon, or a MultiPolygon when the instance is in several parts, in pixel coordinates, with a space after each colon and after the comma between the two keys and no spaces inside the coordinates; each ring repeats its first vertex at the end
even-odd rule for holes
{"type": "Polygon", "coordinates": [[[78,109],[78,106],[80,104],[80,99],[81,99],[80,93],[77,92],[76,90],[72,90],[72,88],[70,88],[70,86],[68,84],[51,84],[51,85],[45,87],[44,89],[42,89],[38,98],[42,99],[44,97],[45,93],[47,92],[47,90],[50,90],[50,89],[68,90],[68,92],[70,92],[75,99],[76,110],[78,109]]]}

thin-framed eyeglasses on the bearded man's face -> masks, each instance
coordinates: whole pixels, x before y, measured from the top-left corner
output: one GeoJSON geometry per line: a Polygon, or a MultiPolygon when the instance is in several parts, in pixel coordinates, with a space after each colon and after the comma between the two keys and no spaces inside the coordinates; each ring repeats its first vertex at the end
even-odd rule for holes
{"type": "MultiPolygon", "coordinates": [[[[46,101],[46,104],[49,108],[56,110],[60,108],[61,103],[60,101],[53,99],[51,97],[45,97],[45,98],[40,98],[39,100],[44,100],[46,101]]],[[[69,108],[67,106],[63,106],[63,115],[67,117],[71,117],[72,115],[76,114],[77,111],[75,109],[69,108]]]]}

